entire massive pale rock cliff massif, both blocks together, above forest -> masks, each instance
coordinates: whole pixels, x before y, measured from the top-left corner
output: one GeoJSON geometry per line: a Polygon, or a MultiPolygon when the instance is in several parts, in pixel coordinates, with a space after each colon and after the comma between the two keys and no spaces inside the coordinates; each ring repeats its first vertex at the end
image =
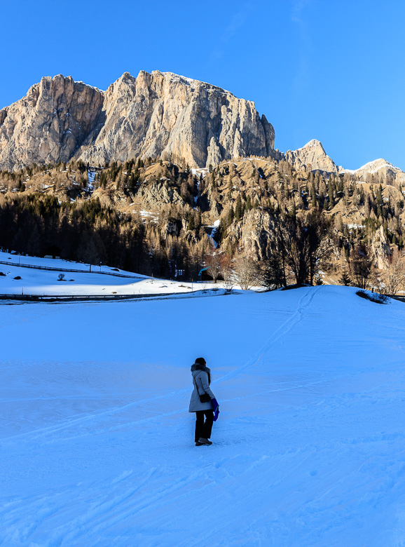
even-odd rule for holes
{"type": "Polygon", "coordinates": [[[271,156],[274,130],[254,102],[170,72],[125,72],[105,93],[46,77],[0,111],[0,168],[167,156],[190,167],[271,156]]]}

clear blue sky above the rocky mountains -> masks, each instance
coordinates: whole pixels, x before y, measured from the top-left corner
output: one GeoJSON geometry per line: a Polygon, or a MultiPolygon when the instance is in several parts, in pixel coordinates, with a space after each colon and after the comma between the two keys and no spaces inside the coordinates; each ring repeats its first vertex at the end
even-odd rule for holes
{"type": "Polygon", "coordinates": [[[0,0],[0,108],[41,76],[158,69],[253,100],[275,146],[405,170],[403,0],[0,0]]]}

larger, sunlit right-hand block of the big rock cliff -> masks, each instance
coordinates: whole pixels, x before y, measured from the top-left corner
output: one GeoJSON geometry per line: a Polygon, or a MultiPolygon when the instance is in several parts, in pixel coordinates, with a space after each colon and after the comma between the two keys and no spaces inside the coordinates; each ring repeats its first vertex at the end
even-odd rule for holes
{"type": "Polygon", "coordinates": [[[207,167],[273,154],[273,127],[253,102],[170,72],[125,72],[107,89],[103,114],[76,154],[86,163],[163,156],[207,167]]]}

